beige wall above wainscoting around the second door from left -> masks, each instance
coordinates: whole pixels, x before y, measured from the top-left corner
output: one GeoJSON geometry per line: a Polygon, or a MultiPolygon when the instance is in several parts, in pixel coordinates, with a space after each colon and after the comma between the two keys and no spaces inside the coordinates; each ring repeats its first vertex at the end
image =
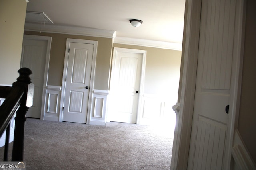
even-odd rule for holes
{"type": "Polygon", "coordinates": [[[110,59],[111,59],[111,50],[112,50],[111,38],[89,37],[89,36],[81,36],[81,35],[67,35],[67,34],[58,34],[58,33],[43,33],[43,32],[40,33],[40,32],[32,32],[32,31],[24,31],[24,34],[52,37],[48,85],[54,85],[54,86],[62,85],[62,74],[63,74],[67,38],[98,41],[94,89],[108,90],[110,59]]]}

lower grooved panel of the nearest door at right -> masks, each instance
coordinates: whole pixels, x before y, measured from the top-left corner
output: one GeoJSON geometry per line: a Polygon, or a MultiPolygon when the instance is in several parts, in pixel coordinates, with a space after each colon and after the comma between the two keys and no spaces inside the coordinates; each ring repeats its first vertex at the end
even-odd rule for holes
{"type": "Polygon", "coordinates": [[[226,125],[199,116],[194,154],[194,170],[221,169],[226,125]]]}

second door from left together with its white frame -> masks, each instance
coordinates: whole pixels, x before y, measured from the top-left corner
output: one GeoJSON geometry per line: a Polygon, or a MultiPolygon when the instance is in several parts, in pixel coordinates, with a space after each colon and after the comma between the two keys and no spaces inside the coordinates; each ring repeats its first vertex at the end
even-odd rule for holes
{"type": "Polygon", "coordinates": [[[60,121],[90,122],[98,41],[67,39],[60,121]]]}

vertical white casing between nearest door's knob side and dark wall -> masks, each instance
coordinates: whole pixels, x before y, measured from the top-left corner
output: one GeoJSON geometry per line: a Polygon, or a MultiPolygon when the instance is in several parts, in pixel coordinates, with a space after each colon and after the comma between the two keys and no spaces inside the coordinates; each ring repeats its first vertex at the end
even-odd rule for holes
{"type": "Polygon", "coordinates": [[[236,17],[234,30],[234,45],[233,45],[233,59],[232,59],[232,82],[230,87],[230,107],[227,125],[227,135],[225,141],[224,151],[224,167],[223,169],[230,169],[231,154],[234,139],[234,129],[237,128],[238,115],[240,108],[240,94],[242,84],[242,66],[244,55],[244,27],[246,16],[246,0],[237,0],[236,2],[236,17]]]}

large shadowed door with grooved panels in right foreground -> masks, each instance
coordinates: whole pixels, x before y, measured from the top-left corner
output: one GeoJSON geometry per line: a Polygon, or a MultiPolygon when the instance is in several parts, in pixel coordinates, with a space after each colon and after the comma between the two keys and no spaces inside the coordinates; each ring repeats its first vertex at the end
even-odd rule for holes
{"type": "Polygon", "coordinates": [[[221,170],[230,104],[236,0],[202,0],[188,169],[221,170]]]}

